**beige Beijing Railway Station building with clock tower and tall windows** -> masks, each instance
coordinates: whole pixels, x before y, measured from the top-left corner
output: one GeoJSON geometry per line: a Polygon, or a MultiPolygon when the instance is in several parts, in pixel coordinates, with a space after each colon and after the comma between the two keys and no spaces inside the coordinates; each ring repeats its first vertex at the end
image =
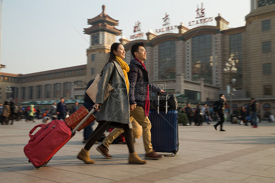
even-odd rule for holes
{"type": "MultiPolygon", "coordinates": [[[[219,93],[230,91],[233,109],[248,105],[254,97],[260,102],[261,114],[275,113],[275,3],[263,4],[251,0],[251,12],[246,25],[229,28],[220,14],[213,18],[216,26],[202,25],[189,29],[180,23],[178,33],[149,31],[146,39],[119,40],[126,49],[125,61],[132,59],[131,46],[143,42],[147,52],[146,68],[149,80],[162,86],[168,93],[182,93],[192,102],[211,102],[219,93]],[[226,75],[224,68],[229,58],[237,73],[226,75]]],[[[209,19],[210,20],[210,19],[209,19]]],[[[16,103],[37,100],[82,99],[87,83],[106,64],[110,47],[122,30],[115,28],[118,21],[102,13],[88,19],[84,33],[91,36],[87,49],[87,64],[31,74],[1,72],[0,100],[5,100],[7,86],[10,98],[16,103]]],[[[173,27],[172,27],[173,28],[173,27]]],[[[8,67],[8,66],[7,66],[8,67]]]]}

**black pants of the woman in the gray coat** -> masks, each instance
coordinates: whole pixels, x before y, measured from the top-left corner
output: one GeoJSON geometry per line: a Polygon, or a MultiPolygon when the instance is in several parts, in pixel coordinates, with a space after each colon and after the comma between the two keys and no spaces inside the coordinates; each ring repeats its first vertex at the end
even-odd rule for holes
{"type": "MultiPolygon", "coordinates": [[[[92,145],[96,142],[96,140],[103,134],[108,126],[110,125],[111,121],[97,121],[98,125],[95,128],[95,130],[92,132],[92,134],[89,136],[86,145],[84,146],[84,149],[89,151],[92,147],[92,145]]],[[[133,136],[133,131],[132,128],[129,128],[128,124],[122,124],[120,123],[121,127],[124,130],[124,137],[125,141],[127,143],[129,153],[134,153],[134,136],[133,136]]]]}

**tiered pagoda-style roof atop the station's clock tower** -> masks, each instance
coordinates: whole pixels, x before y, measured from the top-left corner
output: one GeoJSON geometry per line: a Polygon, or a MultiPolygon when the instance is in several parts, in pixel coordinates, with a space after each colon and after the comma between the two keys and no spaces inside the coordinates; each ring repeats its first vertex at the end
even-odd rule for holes
{"type": "Polygon", "coordinates": [[[92,26],[89,28],[84,28],[85,34],[92,34],[93,32],[103,30],[114,33],[117,36],[121,35],[122,30],[115,28],[115,26],[118,25],[118,20],[111,18],[105,13],[105,5],[102,6],[101,14],[92,19],[88,19],[88,24],[92,26]]]}

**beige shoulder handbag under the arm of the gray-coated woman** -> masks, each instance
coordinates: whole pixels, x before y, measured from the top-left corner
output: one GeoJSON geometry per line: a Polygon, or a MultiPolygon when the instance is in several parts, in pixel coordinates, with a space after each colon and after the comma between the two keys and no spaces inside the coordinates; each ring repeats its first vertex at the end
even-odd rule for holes
{"type": "MultiPolygon", "coordinates": [[[[89,95],[89,97],[92,99],[92,101],[95,103],[95,96],[97,94],[97,86],[98,86],[98,81],[100,80],[102,76],[99,74],[96,74],[94,81],[92,82],[92,85],[87,89],[86,93],[89,95]]],[[[112,76],[111,76],[112,78],[112,76]]],[[[108,84],[106,85],[105,88],[105,93],[104,93],[104,101],[108,98],[108,96],[113,92],[113,87],[110,84],[111,82],[109,81],[108,84]]]]}

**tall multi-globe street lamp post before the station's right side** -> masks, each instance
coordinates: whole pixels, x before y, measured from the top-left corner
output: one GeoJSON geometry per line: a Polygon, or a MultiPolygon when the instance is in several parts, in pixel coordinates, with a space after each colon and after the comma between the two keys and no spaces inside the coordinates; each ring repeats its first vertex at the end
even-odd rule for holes
{"type": "Polygon", "coordinates": [[[226,67],[224,68],[224,73],[229,74],[229,85],[227,86],[227,93],[229,95],[229,115],[232,114],[232,91],[231,91],[231,84],[236,82],[236,79],[232,79],[232,75],[237,73],[237,68],[235,67],[235,61],[231,58],[228,59],[226,63],[226,67]]]}

